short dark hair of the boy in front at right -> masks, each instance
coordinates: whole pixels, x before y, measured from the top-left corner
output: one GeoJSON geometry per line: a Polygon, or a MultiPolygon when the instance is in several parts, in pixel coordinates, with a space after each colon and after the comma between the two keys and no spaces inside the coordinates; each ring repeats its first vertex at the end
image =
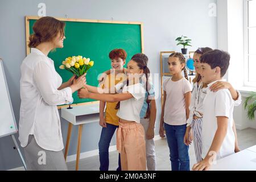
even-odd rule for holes
{"type": "Polygon", "coordinates": [[[204,53],[200,57],[201,63],[207,63],[210,65],[210,68],[221,68],[221,77],[223,77],[226,73],[226,71],[229,68],[229,60],[230,55],[228,52],[221,51],[218,49],[214,49],[213,51],[209,51],[207,53],[204,53]]]}

